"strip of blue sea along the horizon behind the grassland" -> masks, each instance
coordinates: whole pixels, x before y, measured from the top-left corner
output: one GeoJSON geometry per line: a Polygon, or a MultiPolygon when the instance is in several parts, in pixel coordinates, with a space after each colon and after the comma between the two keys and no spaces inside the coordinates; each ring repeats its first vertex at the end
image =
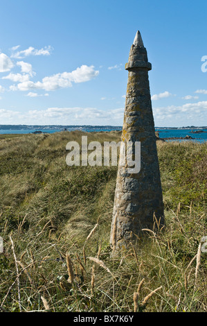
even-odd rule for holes
{"type": "MultiPolygon", "coordinates": [[[[14,126],[15,127],[15,126],[14,126]]],[[[55,126],[53,128],[46,127],[41,128],[41,126],[38,126],[39,128],[9,128],[5,129],[5,126],[3,129],[0,129],[0,135],[6,135],[6,134],[30,134],[33,132],[44,132],[44,133],[53,133],[53,132],[61,132],[64,129],[68,131],[73,131],[73,130],[82,130],[84,132],[104,132],[104,131],[112,131],[112,130],[122,130],[122,127],[120,126],[71,126],[67,128],[58,128],[58,126],[55,126]]],[[[198,130],[198,128],[192,129],[172,129],[172,128],[155,128],[156,131],[159,132],[159,137],[164,138],[165,141],[174,141],[174,139],[168,139],[172,137],[186,137],[187,135],[192,137],[190,141],[195,141],[199,143],[204,143],[207,141],[207,129],[199,129],[202,130],[203,132],[192,132],[198,130]],[[167,138],[167,139],[166,139],[167,138]]],[[[177,139],[178,141],[189,141],[188,139],[177,139]]]]}

